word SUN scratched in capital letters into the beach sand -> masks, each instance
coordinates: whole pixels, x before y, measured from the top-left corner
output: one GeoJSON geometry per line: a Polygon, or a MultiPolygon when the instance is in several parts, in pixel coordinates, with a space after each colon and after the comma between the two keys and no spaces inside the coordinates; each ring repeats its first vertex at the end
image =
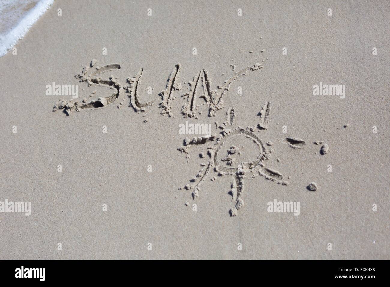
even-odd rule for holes
{"type": "MultiPolygon", "coordinates": [[[[173,116],[172,113],[172,101],[175,99],[173,96],[175,91],[181,89],[182,85],[179,82],[180,74],[180,63],[176,64],[174,70],[170,74],[167,80],[166,88],[159,93],[161,96],[161,102],[159,107],[161,108],[161,114],[168,114],[168,116],[173,116]]],[[[225,80],[222,85],[217,86],[218,90],[211,90],[211,79],[209,73],[206,70],[200,70],[193,81],[188,83],[190,85],[189,92],[184,93],[182,97],[187,97],[187,102],[181,109],[181,113],[186,117],[193,117],[196,114],[196,105],[195,105],[195,93],[197,88],[202,86],[204,94],[201,98],[207,104],[209,109],[209,116],[215,116],[216,112],[220,109],[223,109],[223,96],[229,91],[232,83],[237,80],[239,77],[248,74],[250,71],[258,71],[263,66],[261,64],[255,64],[253,66],[247,67],[241,71],[234,73],[232,77],[225,80]]],[[[70,115],[71,112],[79,112],[85,109],[97,109],[105,107],[114,103],[118,98],[122,85],[118,82],[118,78],[114,78],[112,75],[109,78],[102,78],[101,75],[108,71],[120,70],[121,66],[119,64],[110,64],[103,67],[96,66],[96,60],[92,60],[89,66],[84,66],[83,71],[78,73],[75,77],[80,79],[80,82],[87,82],[88,86],[105,86],[112,90],[114,93],[106,97],[97,97],[96,100],[88,100],[84,98],[82,102],[79,102],[74,99],[70,100],[59,100],[58,103],[53,107],[53,111],[63,110],[67,115],[70,115]],[[92,71],[90,69],[93,68],[92,71]]],[[[128,78],[128,85],[124,86],[123,89],[129,94],[130,106],[137,112],[144,112],[146,108],[153,105],[156,100],[151,102],[143,103],[140,101],[140,86],[142,82],[142,74],[144,69],[141,68],[137,75],[133,78],[128,78]]],[[[94,93],[92,93],[94,94],[94,93]]],[[[92,95],[91,95],[92,96],[92,95]]],[[[118,108],[122,106],[122,102],[119,103],[118,108]]]]}

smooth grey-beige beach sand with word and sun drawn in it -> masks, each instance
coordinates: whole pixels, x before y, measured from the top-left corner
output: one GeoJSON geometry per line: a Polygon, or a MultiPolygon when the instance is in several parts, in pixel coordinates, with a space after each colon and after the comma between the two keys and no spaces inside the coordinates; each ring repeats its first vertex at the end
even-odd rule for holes
{"type": "Polygon", "coordinates": [[[390,259],[389,13],[55,1],[0,58],[0,259],[390,259]]]}

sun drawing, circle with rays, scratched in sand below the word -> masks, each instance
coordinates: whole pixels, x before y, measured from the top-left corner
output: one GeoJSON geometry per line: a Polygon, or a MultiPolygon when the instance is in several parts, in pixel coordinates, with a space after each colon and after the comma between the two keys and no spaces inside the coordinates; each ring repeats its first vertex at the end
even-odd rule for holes
{"type": "MultiPolygon", "coordinates": [[[[268,129],[266,123],[268,123],[269,106],[270,104],[267,102],[260,111],[261,123],[257,125],[257,129],[260,131],[268,129]]],[[[207,147],[209,161],[201,164],[202,169],[199,173],[190,180],[189,184],[186,184],[179,189],[192,189],[192,196],[195,200],[195,198],[199,196],[200,185],[206,180],[210,171],[214,171],[218,176],[232,176],[230,194],[233,198],[234,206],[230,209],[231,216],[236,216],[237,211],[244,205],[244,178],[248,175],[251,175],[252,177],[261,175],[278,184],[288,184],[288,182],[282,181],[283,176],[278,171],[265,167],[266,160],[271,158],[272,149],[268,150],[266,146],[264,146],[261,139],[254,133],[255,129],[253,127],[234,128],[233,122],[235,118],[234,108],[230,108],[226,114],[226,121],[218,126],[218,128],[222,129],[222,132],[220,132],[218,137],[210,135],[194,137],[192,140],[186,138],[184,139],[183,146],[178,148],[181,152],[190,153],[195,146],[209,144],[207,147]],[[229,145],[231,140],[236,139],[236,137],[247,138],[256,145],[255,150],[257,155],[254,160],[245,162],[236,161],[236,155],[241,154],[240,149],[237,146],[229,145]],[[227,154],[222,155],[224,147],[226,146],[228,147],[227,154]]],[[[200,153],[200,156],[205,157],[204,152],[200,153]]],[[[215,179],[215,176],[211,178],[211,180],[215,179]]]]}

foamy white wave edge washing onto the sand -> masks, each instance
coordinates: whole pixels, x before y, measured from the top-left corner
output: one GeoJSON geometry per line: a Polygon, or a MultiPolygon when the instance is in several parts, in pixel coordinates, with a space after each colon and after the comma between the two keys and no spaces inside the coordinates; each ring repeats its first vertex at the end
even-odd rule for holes
{"type": "Polygon", "coordinates": [[[54,0],[0,1],[0,57],[4,56],[46,12],[54,0]]]}

